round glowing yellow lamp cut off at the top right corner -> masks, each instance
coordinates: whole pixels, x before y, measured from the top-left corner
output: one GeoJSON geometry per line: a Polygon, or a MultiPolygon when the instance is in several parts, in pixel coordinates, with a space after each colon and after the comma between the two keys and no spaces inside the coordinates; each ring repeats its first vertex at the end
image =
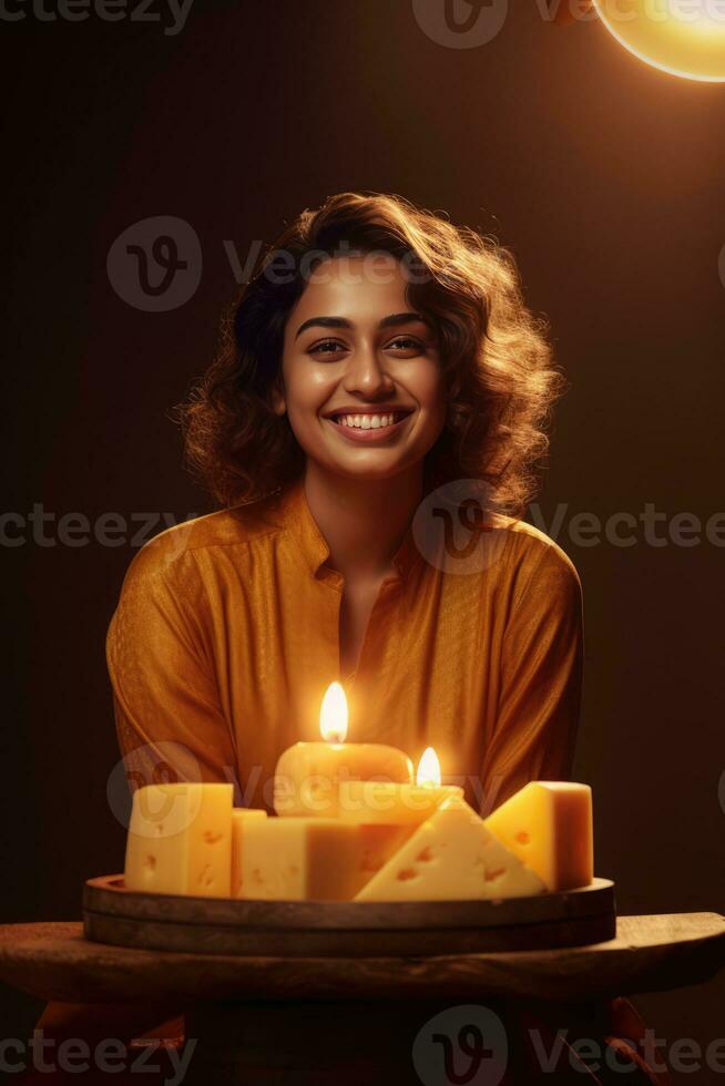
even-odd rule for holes
{"type": "Polygon", "coordinates": [[[724,0],[593,0],[630,52],[684,79],[725,82],[724,0]]]}

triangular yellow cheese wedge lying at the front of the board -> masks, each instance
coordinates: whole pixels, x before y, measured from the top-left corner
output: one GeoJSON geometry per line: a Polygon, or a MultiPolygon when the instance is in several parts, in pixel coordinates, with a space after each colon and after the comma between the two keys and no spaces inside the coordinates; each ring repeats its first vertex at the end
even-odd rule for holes
{"type": "Polygon", "coordinates": [[[543,893],[539,875],[458,796],[443,800],[356,901],[470,901],[543,893]]]}

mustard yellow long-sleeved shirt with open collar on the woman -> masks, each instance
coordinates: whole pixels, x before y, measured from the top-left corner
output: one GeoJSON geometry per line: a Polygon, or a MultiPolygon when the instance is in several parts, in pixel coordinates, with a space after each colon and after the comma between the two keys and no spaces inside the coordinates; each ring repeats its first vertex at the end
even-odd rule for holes
{"type": "Polygon", "coordinates": [[[558,544],[497,518],[483,567],[441,568],[412,525],[384,582],[357,672],[339,674],[344,581],[302,480],[200,516],[134,556],[106,638],[132,790],[233,781],[273,810],[277,758],[319,740],[341,679],[350,742],[439,756],[443,781],[488,813],[529,780],[571,779],[582,679],[582,591],[558,544]]]}

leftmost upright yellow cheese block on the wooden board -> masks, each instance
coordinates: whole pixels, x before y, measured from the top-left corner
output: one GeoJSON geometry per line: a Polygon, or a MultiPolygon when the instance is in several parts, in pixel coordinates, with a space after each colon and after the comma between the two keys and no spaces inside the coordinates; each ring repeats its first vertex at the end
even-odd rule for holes
{"type": "Polygon", "coordinates": [[[133,793],[126,889],[228,898],[233,785],[145,785],[133,793]]]}

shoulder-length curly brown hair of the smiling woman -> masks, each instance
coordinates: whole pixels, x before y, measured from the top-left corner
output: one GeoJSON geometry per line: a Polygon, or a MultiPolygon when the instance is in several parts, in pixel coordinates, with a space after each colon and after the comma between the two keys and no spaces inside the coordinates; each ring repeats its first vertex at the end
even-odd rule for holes
{"type": "Polygon", "coordinates": [[[330,196],[257,256],[223,315],[215,360],[175,408],[187,465],[224,506],[300,475],[303,450],[269,393],[280,380],[285,325],[307,284],[305,267],[343,248],[392,254],[418,269],[407,294],[436,330],[448,401],[427,478],[437,485],[481,479],[500,512],[522,515],[549,448],[552,404],[566,387],[548,325],[525,307],[514,258],[493,238],[382,193],[330,196]]]}

